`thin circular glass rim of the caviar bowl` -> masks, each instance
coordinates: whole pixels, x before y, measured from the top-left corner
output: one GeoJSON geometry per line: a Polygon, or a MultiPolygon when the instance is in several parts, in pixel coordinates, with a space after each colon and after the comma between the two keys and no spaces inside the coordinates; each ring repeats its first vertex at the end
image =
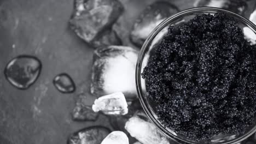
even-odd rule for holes
{"type": "MultiPolygon", "coordinates": [[[[196,11],[212,11],[212,12],[221,12],[221,13],[226,13],[229,15],[232,15],[234,17],[237,17],[238,19],[240,19],[241,21],[245,22],[247,24],[247,26],[252,29],[254,32],[256,32],[256,26],[253,24],[253,22],[249,21],[248,19],[246,19],[245,17],[238,15],[236,13],[233,13],[229,10],[224,10],[224,9],[220,9],[220,8],[214,8],[214,7],[197,7],[197,8],[190,8],[190,9],[185,9],[183,11],[180,11],[177,14],[174,14],[170,17],[168,17],[167,19],[165,19],[164,21],[162,21],[158,26],[156,26],[153,31],[149,34],[148,38],[144,41],[144,44],[142,45],[142,49],[139,52],[138,55],[138,59],[137,59],[137,63],[136,63],[136,73],[135,73],[135,79],[136,79],[136,89],[137,89],[137,94],[139,97],[139,101],[141,102],[141,105],[144,109],[144,111],[146,112],[147,116],[149,117],[149,119],[156,125],[156,127],[162,132],[164,133],[167,137],[169,137],[170,139],[176,141],[176,142],[182,142],[182,143],[188,143],[188,144],[199,144],[199,142],[191,142],[191,141],[187,141],[184,139],[181,139],[181,137],[175,136],[172,133],[170,133],[170,131],[168,131],[163,125],[160,124],[160,122],[155,119],[155,117],[152,114],[152,111],[150,110],[150,108],[148,107],[148,105],[145,103],[146,99],[144,99],[143,97],[143,92],[142,92],[142,87],[141,87],[141,67],[142,67],[142,61],[143,58],[146,54],[146,51],[148,49],[149,44],[152,42],[152,40],[155,38],[156,34],[158,34],[164,27],[166,27],[169,23],[171,23],[172,21],[180,18],[181,16],[191,13],[191,12],[196,12],[196,11]]],[[[240,137],[237,137],[233,140],[230,141],[226,141],[226,142],[210,142],[210,143],[215,143],[215,144],[235,144],[238,142],[241,142],[245,139],[247,139],[249,136],[251,136],[252,134],[254,134],[256,132],[256,125],[254,125],[254,127],[252,129],[250,129],[249,131],[247,131],[247,133],[243,134],[240,137]]]]}

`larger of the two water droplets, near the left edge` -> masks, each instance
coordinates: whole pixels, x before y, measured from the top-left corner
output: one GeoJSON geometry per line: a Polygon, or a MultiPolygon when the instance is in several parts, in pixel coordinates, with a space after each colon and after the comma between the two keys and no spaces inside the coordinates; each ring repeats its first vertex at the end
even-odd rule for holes
{"type": "Polygon", "coordinates": [[[19,89],[27,89],[38,78],[42,63],[37,57],[20,55],[11,59],[4,69],[6,79],[19,89]]]}

